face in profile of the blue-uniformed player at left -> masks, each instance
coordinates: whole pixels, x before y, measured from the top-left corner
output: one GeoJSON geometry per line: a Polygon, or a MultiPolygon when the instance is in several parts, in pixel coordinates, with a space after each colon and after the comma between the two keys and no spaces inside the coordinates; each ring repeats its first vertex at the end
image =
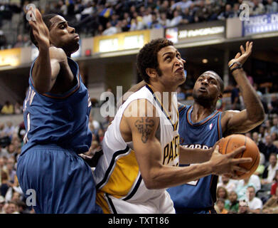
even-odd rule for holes
{"type": "Polygon", "coordinates": [[[68,21],[65,21],[63,16],[54,16],[50,21],[50,42],[58,48],[63,48],[65,52],[77,51],[79,36],[75,33],[75,28],[68,26],[68,21]]]}

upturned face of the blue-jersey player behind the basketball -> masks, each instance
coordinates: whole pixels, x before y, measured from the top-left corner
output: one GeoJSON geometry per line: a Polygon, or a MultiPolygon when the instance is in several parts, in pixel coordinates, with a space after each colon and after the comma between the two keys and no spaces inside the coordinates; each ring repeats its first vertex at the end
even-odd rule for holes
{"type": "Polygon", "coordinates": [[[203,73],[193,88],[193,97],[197,100],[215,101],[220,96],[218,76],[211,71],[203,73]]]}

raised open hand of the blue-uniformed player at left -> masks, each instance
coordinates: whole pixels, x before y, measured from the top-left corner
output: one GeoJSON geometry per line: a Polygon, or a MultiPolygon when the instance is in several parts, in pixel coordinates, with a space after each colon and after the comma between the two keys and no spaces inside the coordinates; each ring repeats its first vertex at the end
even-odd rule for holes
{"type": "Polygon", "coordinates": [[[49,48],[50,34],[48,27],[43,22],[43,17],[38,9],[28,9],[27,14],[30,16],[28,23],[33,28],[33,36],[38,42],[39,48],[49,48]]]}

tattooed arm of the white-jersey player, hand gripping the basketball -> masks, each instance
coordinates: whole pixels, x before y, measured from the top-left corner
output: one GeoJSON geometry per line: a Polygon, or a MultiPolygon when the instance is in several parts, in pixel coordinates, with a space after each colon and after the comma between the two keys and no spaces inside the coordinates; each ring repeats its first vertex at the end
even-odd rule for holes
{"type": "MultiPolygon", "coordinates": [[[[137,102],[137,101],[135,101],[137,102]]],[[[132,105],[132,103],[130,104],[132,105]]],[[[155,112],[152,105],[147,105],[150,112],[155,112]]],[[[140,106],[141,107],[141,106],[140,106]]],[[[148,108],[146,108],[146,113],[148,108]]],[[[129,108],[127,108],[127,111],[129,108]]],[[[126,111],[125,111],[126,112],[126,111]]],[[[163,165],[161,162],[161,144],[156,138],[156,130],[159,127],[159,118],[154,117],[129,117],[122,118],[132,133],[132,142],[139,170],[144,183],[149,189],[163,189],[182,185],[186,182],[205,177],[209,174],[221,175],[223,173],[233,174],[235,170],[242,170],[237,164],[250,162],[250,158],[234,159],[236,154],[245,148],[235,150],[228,155],[221,155],[218,147],[213,152],[210,160],[203,164],[189,167],[174,167],[163,165]]],[[[236,176],[233,176],[236,178],[236,176]]]]}

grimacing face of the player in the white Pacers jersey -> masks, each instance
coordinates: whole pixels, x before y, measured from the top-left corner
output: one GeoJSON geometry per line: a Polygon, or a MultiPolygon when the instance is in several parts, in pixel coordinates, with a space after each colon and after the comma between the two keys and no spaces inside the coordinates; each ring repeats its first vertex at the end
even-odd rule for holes
{"type": "Polygon", "coordinates": [[[161,48],[157,53],[157,59],[161,71],[161,76],[158,79],[164,86],[177,87],[186,81],[184,74],[184,63],[186,61],[181,58],[181,53],[176,48],[173,46],[161,48]]]}

